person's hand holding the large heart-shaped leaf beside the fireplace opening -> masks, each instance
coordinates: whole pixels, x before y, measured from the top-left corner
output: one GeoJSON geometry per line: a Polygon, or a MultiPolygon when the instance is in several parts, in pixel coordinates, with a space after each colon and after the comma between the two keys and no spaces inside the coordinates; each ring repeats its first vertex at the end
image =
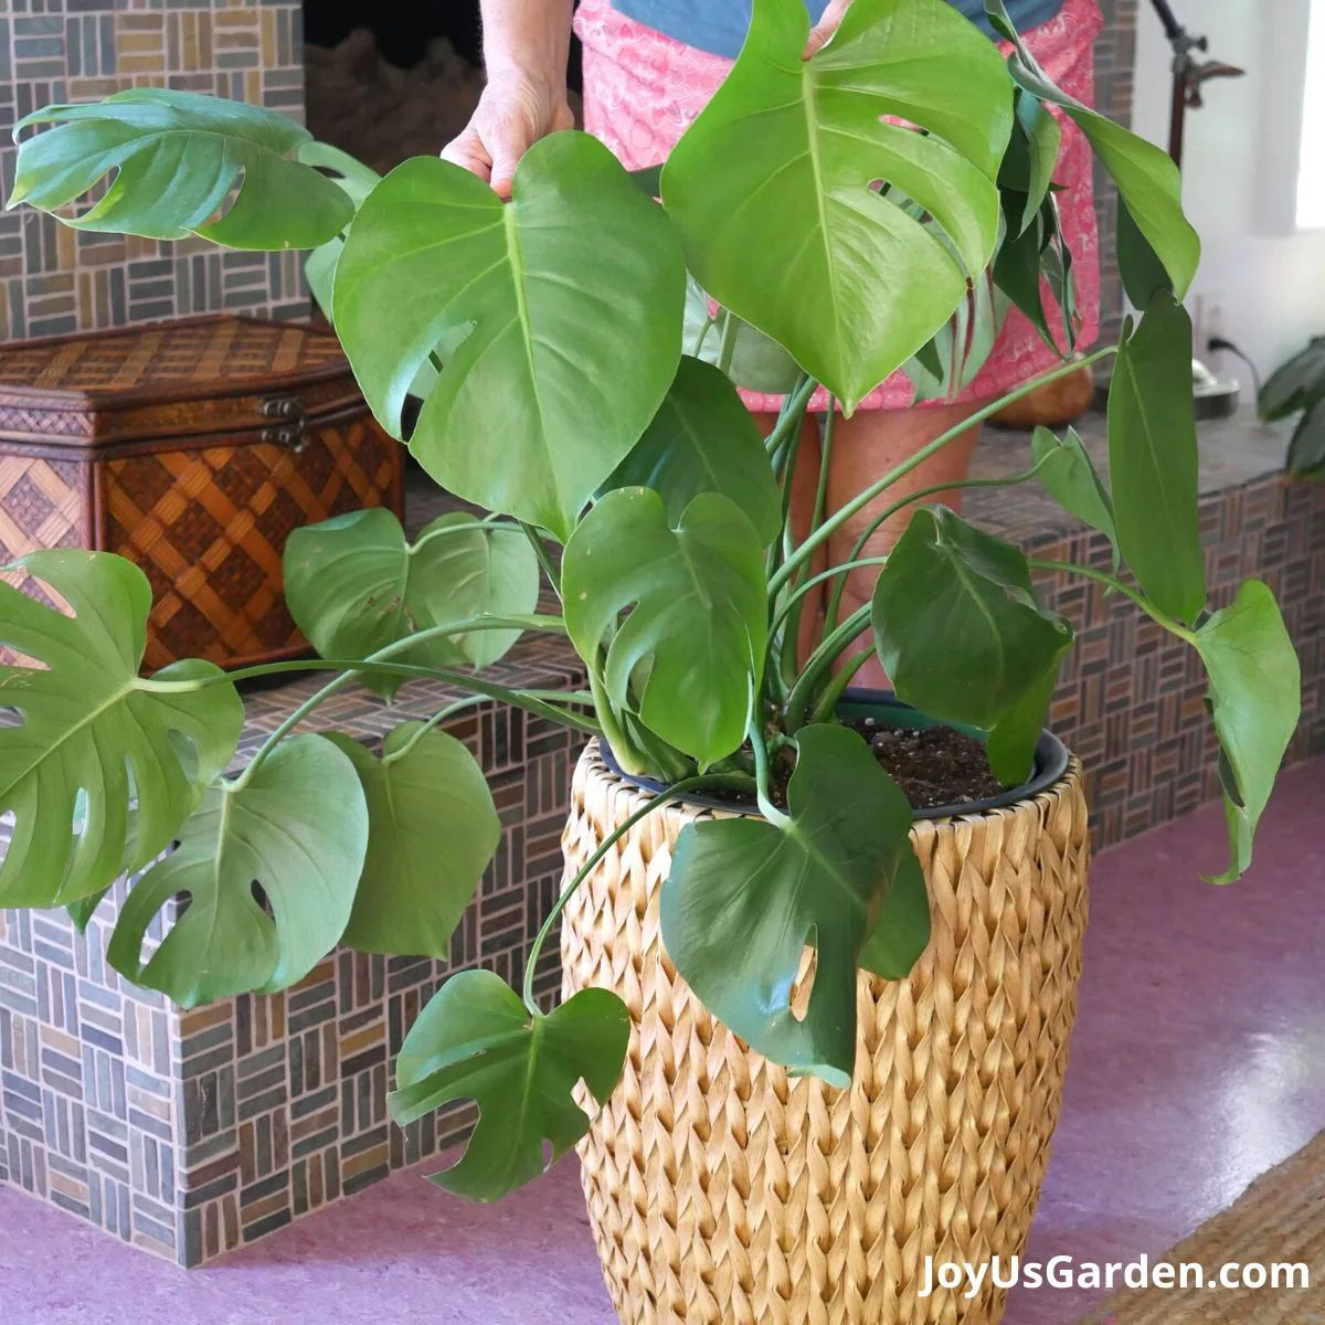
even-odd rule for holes
{"type": "Polygon", "coordinates": [[[473,118],[441,155],[510,197],[510,180],[521,156],[539,138],[574,125],[564,78],[558,82],[555,76],[533,80],[521,70],[489,70],[473,118]]]}

